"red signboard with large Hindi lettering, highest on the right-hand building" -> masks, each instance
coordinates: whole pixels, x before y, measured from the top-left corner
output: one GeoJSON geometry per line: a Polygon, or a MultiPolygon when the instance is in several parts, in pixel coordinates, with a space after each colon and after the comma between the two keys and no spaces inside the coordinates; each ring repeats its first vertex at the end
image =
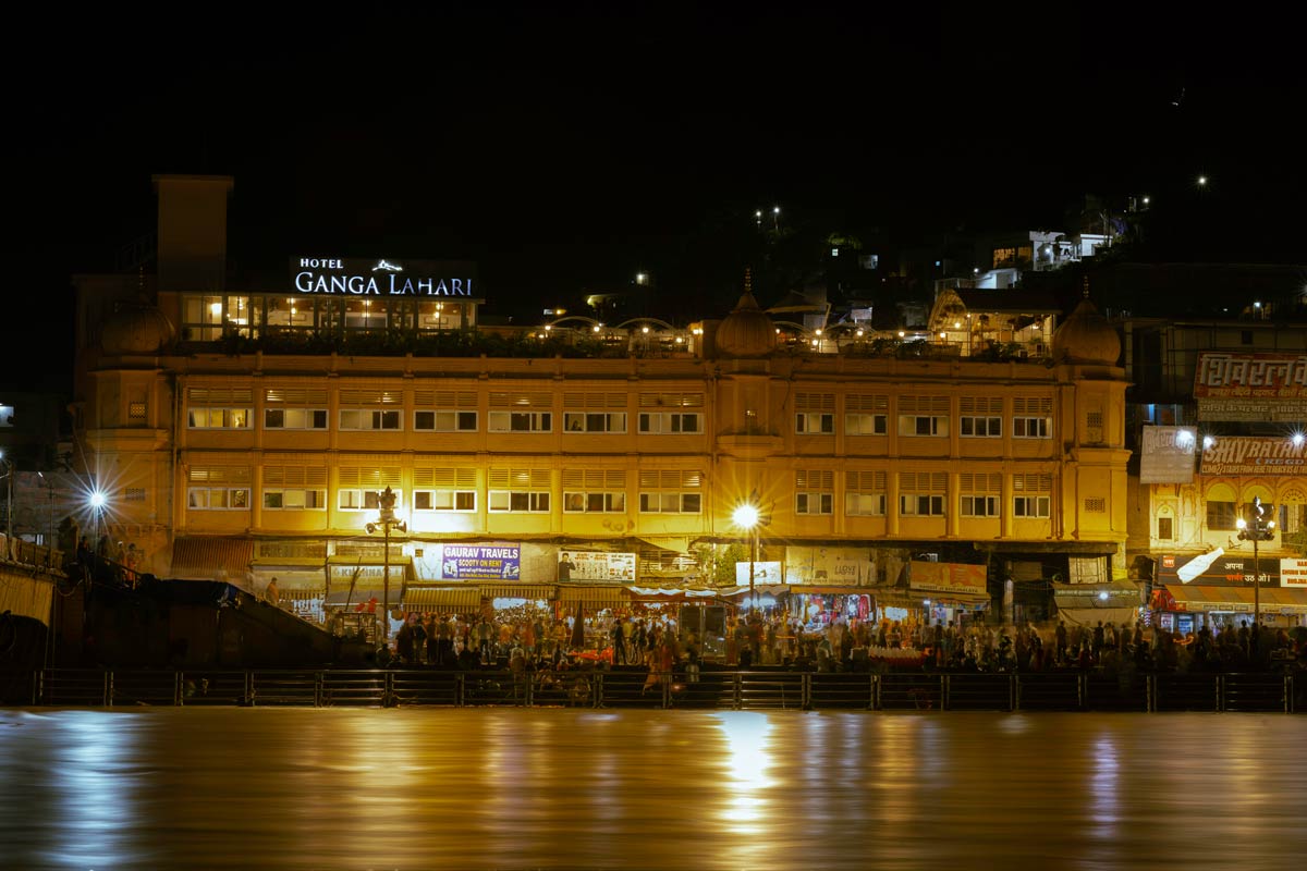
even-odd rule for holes
{"type": "Polygon", "coordinates": [[[1307,354],[1199,354],[1199,420],[1307,419],[1307,354]]]}

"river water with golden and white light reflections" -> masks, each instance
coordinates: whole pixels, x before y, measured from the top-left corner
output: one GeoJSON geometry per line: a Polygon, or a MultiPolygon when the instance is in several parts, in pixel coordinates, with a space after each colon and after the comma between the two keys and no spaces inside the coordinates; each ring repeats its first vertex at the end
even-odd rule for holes
{"type": "Polygon", "coordinates": [[[4,868],[1299,868],[1307,718],[0,709],[4,868]]]}

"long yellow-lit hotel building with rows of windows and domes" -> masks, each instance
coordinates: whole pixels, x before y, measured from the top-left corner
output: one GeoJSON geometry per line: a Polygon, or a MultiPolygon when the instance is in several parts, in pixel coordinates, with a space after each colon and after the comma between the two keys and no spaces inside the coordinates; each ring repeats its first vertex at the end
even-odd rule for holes
{"type": "Polygon", "coordinates": [[[1047,362],[782,351],[748,291],[657,353],[627,337],[621,356],[452,355],[431,349],[477,326],[476,279],[452,293],[464,265],[437,295],[291,276],[237,291],[230,179],[157,185],[157,278],[78,278],[76,426],[112,530],[161,576],[329,593],[382,562],[366,526],[386,487],[408,584],[552,584],[569,551],[638,555],[604,580],[702,584],[698,546],[742,541],[744,501],[765,562],[847,551],[857,585],[932,556],[995,556],[999,577],[1022,559],[1124,565],[1125,380],[1087,300],[1047,362]]]}

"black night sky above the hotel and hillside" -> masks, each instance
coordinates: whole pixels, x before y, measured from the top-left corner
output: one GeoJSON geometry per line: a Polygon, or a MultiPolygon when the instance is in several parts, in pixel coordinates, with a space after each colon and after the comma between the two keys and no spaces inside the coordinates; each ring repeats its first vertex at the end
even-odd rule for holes
{"type": "MultiPolygon", "coordinates": [[[[736,243],[778,204],[910,244],[1148,193],[1171,227],[1159,257],[1307,262],[1302,22],[1274,8],[430,5],[308,7],[295,26],[240,7],[212,25],[34,13],[14,35],[43,61],[3,60],[0,385],[31,384],[14,325],[71,332],[69,276],[154,229],[166,172],[235,178],[247,273],[474,260],[488,315],[638,270],[668,299],[733,299],[736,243]]],[[[68,353],[37,381],[67,389],[68,353]]]]}

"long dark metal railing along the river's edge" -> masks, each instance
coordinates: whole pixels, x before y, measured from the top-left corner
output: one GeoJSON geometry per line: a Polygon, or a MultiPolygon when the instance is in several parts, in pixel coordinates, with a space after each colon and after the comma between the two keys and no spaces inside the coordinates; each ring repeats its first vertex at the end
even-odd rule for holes
{"type": "Polygon", "coordinates": [[[1307,712],[1293,674],[795,671],[0,671],[0,704],[125,708],[689,708],[711,710],[1307,712]]]}

